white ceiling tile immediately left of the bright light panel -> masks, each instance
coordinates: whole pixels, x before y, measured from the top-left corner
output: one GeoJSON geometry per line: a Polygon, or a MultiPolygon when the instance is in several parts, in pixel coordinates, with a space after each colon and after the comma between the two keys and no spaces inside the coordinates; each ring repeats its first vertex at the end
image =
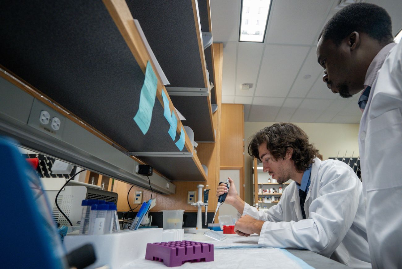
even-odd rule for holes
{"type": "Polygon", "coordinates": [[[210,0],[213,42],[239,40],[241,1],[210,0]]]}

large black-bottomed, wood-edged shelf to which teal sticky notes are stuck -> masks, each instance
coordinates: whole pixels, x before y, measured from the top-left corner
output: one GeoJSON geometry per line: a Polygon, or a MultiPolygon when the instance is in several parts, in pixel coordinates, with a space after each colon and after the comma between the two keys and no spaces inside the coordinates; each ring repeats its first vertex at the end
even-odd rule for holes
{"type": "MultiPolygon", "coordinates": [[[[136,3],[144,4],[143,1],[136,3]]],[[[172,35],[175,32],[168,28],[166,20],[161,19],[163,17],[158,17],[157,20],[164,24],[165,35],[172,35]]],[[[57,104],[56,107],[64,111],[66,116],[81,122],[83,128],[105,137],[111,141],[111,145],[122,151],[155,153],[154,157],[137,158],[152,165],[157,171],[165,171],[168,179],[206,180],[197,155],[192,155],[193,146],[189,138],[186,136],[183,151],[175,145],[180,137],[180,120],[175,140],[168,134],[170,124],[163,116],[161,97],[162,91],[166,90],[160,80],[148,132],[144,135],[133,120],[139,107],[149,56],[141,40],[138,42],[138,39],[130,36],[138,37],[139,34],[135,24],[129,24],[129,29],[125,24],[133,18],[124,1],[60,0],[49,5],[39,0],[8,0],[2,2],[0,18],[0,67],[49,98],[49,106],[57,104]],[[173,156],[187,154],[188,157],[170,157],[166,161],[164,153],[171,153],[173,156]],[[175,173],[170,167],[181,169],[177,169],[180,171],[175,173]]],[[[194,26],[189,26],[188,32],[195,35],[194,26]]],[[[197,40],[194,37],[191,39],[197,40]]],[[[148,39],[151,40],[152,38],[148,39]]],[[[158,37],[158,42],[166,44],[169,41],[158,37]]],[[[180,59],[175,59],[177,57],[172,55],[164,59],[157,51],[155,49],[156,58],[162,57],[160,63],[164,63],[161,65],[166,75],[169,72],[176,74],[172,66],[179,65],[187,57],[200,58],[199,54],[193,55],[193,51],[182,55],[180,59]],[[166,65],[166,61],[174,63],[166,65]]],[[[175,49],[172,48],[172,51],[175,49]]],[[[202,74],[201,64],[197,68],[197,72],[194,75],[191,72],[192,75],[187,78],[195,77],[195,81],[202,84],[202,77],[196,75],[202,74]]],[[[180,76],[182,75],[168,75],[168,79],[178,85],[180,76]]],[[[202,99],[197,102],[201,103],[202,99]]],[[[187,103],[187,106],[191,104],[187,103]]],[[[193,106],[193,109],[198,108],[193,106]]],[[[178,110],[180,111],[179,107],[178,110]]],[[[185,124],[189,125],[188,122],[185,124]]],[[[204,128],[213,132],[211,126],[204,128]]]]}

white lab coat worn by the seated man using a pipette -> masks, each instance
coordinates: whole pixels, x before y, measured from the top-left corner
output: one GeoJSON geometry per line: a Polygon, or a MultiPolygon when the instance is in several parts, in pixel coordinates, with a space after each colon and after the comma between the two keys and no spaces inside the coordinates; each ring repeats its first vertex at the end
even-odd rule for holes
{"type": "Polygon", "coordinates": [[[371,268],[361,181],[346,163],[314,161],[305,220],[295,182],[266,212],[245,204],[243,215],[267,221],[258,245],[308,249],[353,268],[371,268]]]}

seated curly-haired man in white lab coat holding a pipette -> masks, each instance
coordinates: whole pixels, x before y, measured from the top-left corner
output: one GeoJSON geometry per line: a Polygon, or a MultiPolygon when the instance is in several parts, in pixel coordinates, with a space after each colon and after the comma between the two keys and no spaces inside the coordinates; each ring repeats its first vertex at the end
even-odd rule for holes
{"type": "MultiPolygon", "coordinates": [[[[278,183],[294,182],[277,205],[258,212],[241,200],[230,179],[225,202],[242,215],[237,234],[257,233],[263,247],[308,249],[353,268],[371,268],[362,184],[351,167],[318,159],[307,134],[291,123],[258,131],[248,153],[278,183]]],[[[224,192],[220,185],[217,196],[224,192]]]]}

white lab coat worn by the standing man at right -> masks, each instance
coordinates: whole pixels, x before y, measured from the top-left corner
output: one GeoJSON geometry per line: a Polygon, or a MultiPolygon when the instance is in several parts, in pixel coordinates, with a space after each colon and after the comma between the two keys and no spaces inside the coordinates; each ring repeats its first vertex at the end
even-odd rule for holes
{"type": "Polygon", "coordinates": [[[360,121],[373,268],[402,268],[402,42],[388,53],[360,121]]]}

